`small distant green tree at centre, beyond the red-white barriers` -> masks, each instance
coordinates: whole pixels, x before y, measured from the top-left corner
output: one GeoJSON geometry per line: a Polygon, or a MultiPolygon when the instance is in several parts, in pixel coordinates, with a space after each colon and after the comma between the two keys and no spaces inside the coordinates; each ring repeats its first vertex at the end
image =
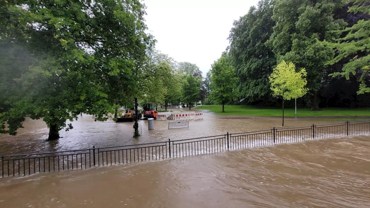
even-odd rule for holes
{"type": "Polygon", "coordinates": [[[199,99],[200,85],[201,79],[199,76],[186,75],[182,84],[182,102],[189,105],[189,110],[191,110],[192,103],[199,99]]]}

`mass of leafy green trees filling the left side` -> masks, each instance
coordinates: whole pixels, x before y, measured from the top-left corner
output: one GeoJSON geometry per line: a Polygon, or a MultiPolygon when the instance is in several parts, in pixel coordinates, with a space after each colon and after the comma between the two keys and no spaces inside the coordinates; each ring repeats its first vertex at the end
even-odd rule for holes
{"type": "Polygon", "coordinates": [[[139,0],[1,1],[0,133],[29,117],[54,140],[82,113],[105,121],[120,106],[138,115],[139,102],[204,97],[199,68],[156,51],[144,15],[139,0]]]}

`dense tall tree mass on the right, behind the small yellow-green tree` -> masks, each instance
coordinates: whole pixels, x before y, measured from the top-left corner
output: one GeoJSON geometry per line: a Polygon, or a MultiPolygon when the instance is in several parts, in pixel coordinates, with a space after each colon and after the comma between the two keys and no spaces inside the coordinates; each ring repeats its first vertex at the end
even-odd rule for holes
{"type": "Polygon", "coordinates": [[[226,55],[240,96],[246,104],[276,105],[269,76],[284,60],[307,72],[309,91],[299,105],[370,106],[369,19],[367,0],[259,1],[229,35],[226,55]]]}

